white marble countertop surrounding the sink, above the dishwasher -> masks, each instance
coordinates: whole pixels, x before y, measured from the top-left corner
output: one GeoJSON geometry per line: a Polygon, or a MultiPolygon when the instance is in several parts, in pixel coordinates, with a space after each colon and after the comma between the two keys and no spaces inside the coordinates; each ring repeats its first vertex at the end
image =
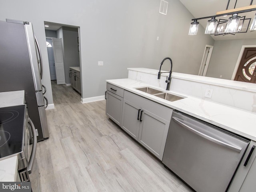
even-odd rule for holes
{"type": "Polygon", "coordinates": [[[166,91],[162,88],[132,79],[115,79],[106,81],[120,88],[256,141],[256,114],[253,112],[240,110],[238,108],[206,101],[204,99],[195,98],[177,92],[166,91]],[[170,102],[135,89],[144,86],[156,88],[163,92],[176,94],[185,98],[170,102]]]}

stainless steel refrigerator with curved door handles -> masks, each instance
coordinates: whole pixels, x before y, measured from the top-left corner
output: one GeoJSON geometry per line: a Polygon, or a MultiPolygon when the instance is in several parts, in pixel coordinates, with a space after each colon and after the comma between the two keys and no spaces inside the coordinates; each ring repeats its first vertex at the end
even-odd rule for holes
{"type": "Polygon", "coordinates": [[[37,140],[49,137],[42,59],[31,22],[0,21],[0,92],[24,90],[37,140]],[[44,88],[44,89],[43,89],[44,88]]]}

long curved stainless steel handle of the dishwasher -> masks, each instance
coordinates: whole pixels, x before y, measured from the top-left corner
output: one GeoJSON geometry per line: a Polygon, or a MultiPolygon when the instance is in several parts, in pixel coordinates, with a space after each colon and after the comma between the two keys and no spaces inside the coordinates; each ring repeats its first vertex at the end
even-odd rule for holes
{"type": "Polygon", "coordinates": [[[178,124],[180,124],[182,127],[186,128],[186,129],[188,129],[188,130],[190,130],[191,132],[193,132],[193,133],[195,133],[195,134],[197,134],[197,135],[199,135],[199,136],[201,136],[201,137],[203,137],[203,138],[205,138],[205,139],[207,139],[207,140],[210,140],[210,141],[212,141],[212,142],[214,142],[214,143],[216,143],[216,144],[219,144],[219,145],[224,146],[224,147],[226,147],[226,148],[230,148],[230,149],[232,149],[232,150],[234,150],[234,151],[237,151],[237,152],[240,152],[240,151],[242,150],[242,148],[237,148],[237,147],[232,146],[232,145],[230,145],[230,144],[228,144],[228,143],[226,143],[226,142],[220,141],[220,140],[218,140],[218,139],[216,139],[216,138],[213,138],[213,137],[211,137],[211,136],[208,136],[208,135],[206,135],[206,134],[204,134],[204,133],[202,133],[202,132],[200,132],[200,131],[198,131],[198,130],[195,130],[194,128],[192,128],[192,127],[190,127],[190,126],[184,124],[183,122],[181,122],[180,120],[178,120],[178,119],[175,118],[175,117],[172,117],[172,118],[173,118],[174,121],[176,121],[176,122],[177,122],[178,124]]]}

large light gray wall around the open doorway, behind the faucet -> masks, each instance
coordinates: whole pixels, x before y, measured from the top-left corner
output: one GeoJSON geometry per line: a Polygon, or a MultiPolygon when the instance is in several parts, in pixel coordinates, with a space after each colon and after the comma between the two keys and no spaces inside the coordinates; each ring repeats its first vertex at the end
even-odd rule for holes
{"type": "Polygon", "coordinates": [[[158,69],[166,56],[174,62],[173,71],[197,74],[205,45],[214,41],[202,26],[197,36],[188,36],[194,17],[179,0],[167,1],[165,16],[159,14],[160,0],[8,0],[1,2],[0,20],[33,23],[44,61],[42,81],[52,104],[44,21],[80,26],[83,98],[104,95],[105,80],[127,78],[128,67],[158,69]]]}

